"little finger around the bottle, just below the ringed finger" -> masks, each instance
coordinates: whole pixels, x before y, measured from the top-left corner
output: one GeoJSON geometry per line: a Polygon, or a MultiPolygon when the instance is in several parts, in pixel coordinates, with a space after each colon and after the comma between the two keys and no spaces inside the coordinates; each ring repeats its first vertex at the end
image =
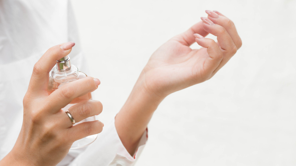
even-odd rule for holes
{"type": "Polygon", "coordinates": [[[67,133],[67,137],[74,142],[86,136],[91,136],[102,132],[103,126],[104,124],[100,121],[83,122],[70,127],[67,133]]]}

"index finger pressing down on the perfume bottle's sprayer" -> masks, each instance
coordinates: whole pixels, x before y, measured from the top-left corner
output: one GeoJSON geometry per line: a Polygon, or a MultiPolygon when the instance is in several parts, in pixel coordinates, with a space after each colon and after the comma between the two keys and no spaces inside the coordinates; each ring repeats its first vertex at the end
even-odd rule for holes
{"type": "Polygon", "coordinates": [[[53,46],[44,53],[33,68],[29,89],[35,92],[47,89],[48,74],[52,67],[57,63],[56,60],[67,56],[71,52],[74,42],[63,43],[53,46]]]}

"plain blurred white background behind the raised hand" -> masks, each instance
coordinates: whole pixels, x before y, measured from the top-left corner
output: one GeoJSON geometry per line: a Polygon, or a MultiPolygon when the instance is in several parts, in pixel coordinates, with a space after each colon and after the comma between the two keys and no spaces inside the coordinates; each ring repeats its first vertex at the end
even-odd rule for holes
{"type": "Polygon", "coordinates": [[[296,165],[295,0],[72,2],[105,123],[150,55],[205,10],[233,20],[242,38],[212,79],[165,98],[136,165],[296,165]]]}

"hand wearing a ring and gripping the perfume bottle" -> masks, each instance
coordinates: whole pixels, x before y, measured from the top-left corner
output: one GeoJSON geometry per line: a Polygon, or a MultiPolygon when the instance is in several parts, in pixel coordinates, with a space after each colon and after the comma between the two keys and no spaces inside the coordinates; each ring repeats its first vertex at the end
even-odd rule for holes
{"type": "MultiPolygon", "coordinates": [[[[74,98],[97,89],[100,81],[92,77],[70,82],[47,92],[49,71],[56,60],[68,55],[73,42],[50,48],[35,64],[28,91],[23,100],[24,116],[20,135],[12,151],[0,165],[56,165],[68,153],[74,141],[98,134],[104,124],[83,122],[75,126],[62,110],[74,98]]],[[[76,122],[102,112],[99,101],[88,100],[69,108],[76,122]]]]}

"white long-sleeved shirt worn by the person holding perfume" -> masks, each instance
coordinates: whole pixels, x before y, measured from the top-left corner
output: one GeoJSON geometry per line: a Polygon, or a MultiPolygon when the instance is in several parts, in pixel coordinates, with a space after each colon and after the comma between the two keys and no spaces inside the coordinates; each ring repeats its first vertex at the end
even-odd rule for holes
{"type": "MultiPolygon", "coordinates": [[[[0,160],[15,144],[22,126],[22,99],[33,66],[54,45],[74,41],[71,63],[87,71],[68,0],[0,0],[0,160]]],[[[117,134],[114,119],[86,148],[71,149],[58,165],[134,165],[147,141],[143,134],[131,156],[117,134]]]]}

